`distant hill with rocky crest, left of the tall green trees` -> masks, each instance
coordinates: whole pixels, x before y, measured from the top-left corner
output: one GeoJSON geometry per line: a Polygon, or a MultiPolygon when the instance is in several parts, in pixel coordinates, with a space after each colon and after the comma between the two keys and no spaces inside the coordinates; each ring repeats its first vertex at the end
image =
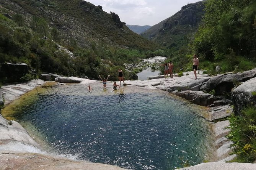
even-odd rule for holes
{"type": "Polygon", "coordinates": [[[142,37],[167,48],[180,47],[187,43],[190,34],[198,30],[204,15],[204,2],[190,3],[173,16],[143,32],[142,37]]]}

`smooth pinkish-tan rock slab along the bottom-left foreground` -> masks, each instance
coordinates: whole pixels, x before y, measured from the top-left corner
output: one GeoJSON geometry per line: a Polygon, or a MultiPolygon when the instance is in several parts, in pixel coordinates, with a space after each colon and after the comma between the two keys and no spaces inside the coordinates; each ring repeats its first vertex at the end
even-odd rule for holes
{"type": "Polygon", "coordinates": [[[3,170],[125,170],[113,165],[76,161],[39,153],[2,151],[0,151],[0,164],[3,170]]]}

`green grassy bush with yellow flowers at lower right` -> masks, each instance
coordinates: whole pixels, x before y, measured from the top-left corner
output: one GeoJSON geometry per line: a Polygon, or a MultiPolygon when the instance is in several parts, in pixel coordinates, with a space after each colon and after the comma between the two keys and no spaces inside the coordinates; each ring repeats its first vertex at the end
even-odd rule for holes
{"type": "Polygon", "coordinates": [[[233,141],[233,153],[238,155],[236,161],[251,162],[256,160],[256,107],[247,107],[239,116],[232,115],[231,132],[227,138],[233,141]]]}

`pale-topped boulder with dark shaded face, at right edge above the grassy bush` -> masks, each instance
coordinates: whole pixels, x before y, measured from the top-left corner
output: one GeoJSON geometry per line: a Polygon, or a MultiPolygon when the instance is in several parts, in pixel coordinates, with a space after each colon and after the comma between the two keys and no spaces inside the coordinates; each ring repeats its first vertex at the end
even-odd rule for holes
{"type": "Polygon", "coordinates": [[[246,106],[256,106],[256,78],[250,79],[232,91],[234,111],[237,113],[246,106]]]}

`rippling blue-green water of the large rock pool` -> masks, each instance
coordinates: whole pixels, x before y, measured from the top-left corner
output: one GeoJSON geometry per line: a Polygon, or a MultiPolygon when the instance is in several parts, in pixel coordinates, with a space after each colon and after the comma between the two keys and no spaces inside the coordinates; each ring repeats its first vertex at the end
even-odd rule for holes
{"type": "Polygon", "coordinates": [[[36,127],[56,154],[130,170],[172,170],[207,159],[210,128],[190,104],[160,90],[91,86],[91,92],[82,84],[48,88],[18,122],[36,127]]]}

